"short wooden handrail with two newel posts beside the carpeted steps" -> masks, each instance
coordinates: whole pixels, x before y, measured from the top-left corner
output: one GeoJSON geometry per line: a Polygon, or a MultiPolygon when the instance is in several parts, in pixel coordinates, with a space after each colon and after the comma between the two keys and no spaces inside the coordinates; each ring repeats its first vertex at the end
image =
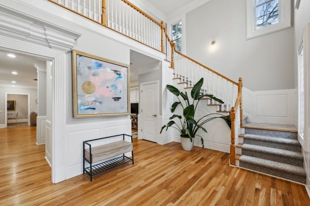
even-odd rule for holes
{"type": "Polygon", "coordinates": [[[238,108],[238,105],[240,105],[239,109],[240,109],[240,126],[243,125],[243,120],[242,120],[242,78],[239,78],[239,83],[238,83],[238,95],[236,98],[236,102],[234,103],[234,106],[231,109],[231,120],[232,120],[232,124],[231,124],[231,146],[230,146],[230,163],[231,165],[236,165],[236,146],[235,146],[235,118],[236,118],[236,110],[235,108],[238,108]]]}

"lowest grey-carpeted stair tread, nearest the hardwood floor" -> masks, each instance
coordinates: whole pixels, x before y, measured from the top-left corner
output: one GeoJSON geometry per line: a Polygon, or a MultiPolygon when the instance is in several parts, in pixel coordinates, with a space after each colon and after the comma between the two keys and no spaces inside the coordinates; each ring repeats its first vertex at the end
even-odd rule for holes
{"type": "Polygon", "coordinates": [[[276,170],[284,171],[287,173],[292,173],[300,176],[306,177],[306,172],[303,167],[295,166],[292,164],[286,164],[281,162],[275,162],[271,160],[265,160],[257,157],[250,157],[247,155],[241,155],[239,158],[240,162],[248,162],[251,164],[258,164],[263,167],[273,168],[276,170]]]}

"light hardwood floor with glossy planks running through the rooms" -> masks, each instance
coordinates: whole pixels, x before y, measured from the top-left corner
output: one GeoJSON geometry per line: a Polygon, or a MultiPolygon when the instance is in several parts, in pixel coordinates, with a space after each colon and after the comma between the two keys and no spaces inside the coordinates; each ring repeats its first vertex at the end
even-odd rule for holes
{"type": "MultiPolygon", "coordinates": [[[[228,165],[228,154],[134,139],[135,164],[51,184],[35,127],[0,129],[0,205],[309,206],[305,186],[228,165]]],[[[82,157],[81,157],[82,158],[82,157]]]]}

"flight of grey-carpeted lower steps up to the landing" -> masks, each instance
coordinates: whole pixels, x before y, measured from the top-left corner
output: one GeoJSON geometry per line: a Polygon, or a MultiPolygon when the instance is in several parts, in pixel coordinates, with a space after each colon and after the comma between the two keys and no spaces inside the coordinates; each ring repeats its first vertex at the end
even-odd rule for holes
{"type": "Polygon", "coordinates": [[[236,166],[306,184],[303,155],[294,127],[245,123],[242,130],[236,166]]]}

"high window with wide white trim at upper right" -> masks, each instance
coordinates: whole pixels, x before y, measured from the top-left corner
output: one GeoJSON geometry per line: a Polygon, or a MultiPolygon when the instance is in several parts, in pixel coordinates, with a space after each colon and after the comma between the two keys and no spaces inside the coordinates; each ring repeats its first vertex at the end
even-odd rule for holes
{"type": "Polygon", "coordinates": [[[247,0],[247,39],[291,27],[291,0],[247,0]]]}

